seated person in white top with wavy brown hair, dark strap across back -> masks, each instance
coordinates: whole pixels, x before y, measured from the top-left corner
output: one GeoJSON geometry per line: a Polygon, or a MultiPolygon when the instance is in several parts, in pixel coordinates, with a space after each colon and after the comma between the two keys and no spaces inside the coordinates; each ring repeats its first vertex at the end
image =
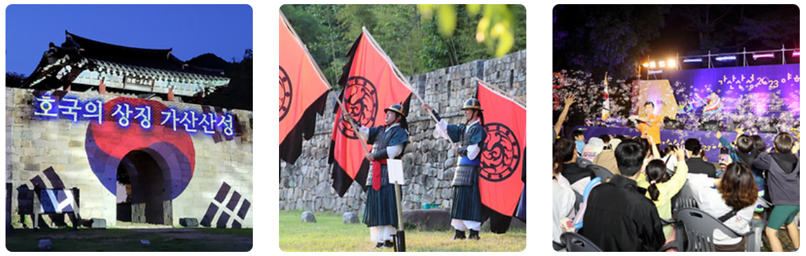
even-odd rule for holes
{"type": "MultiPolygon", "coordinates": [[[[693,176],[688,185],[700,202],[700,209],[722,221],[736,233],[750,232],[750,221],[758,197],[750,166],[735,162],[725,168],[721,179],[693,176]]],[[[746,237],[731,238],[720,230],[713,231],[717,251],[745,251],[746,237]]]]}

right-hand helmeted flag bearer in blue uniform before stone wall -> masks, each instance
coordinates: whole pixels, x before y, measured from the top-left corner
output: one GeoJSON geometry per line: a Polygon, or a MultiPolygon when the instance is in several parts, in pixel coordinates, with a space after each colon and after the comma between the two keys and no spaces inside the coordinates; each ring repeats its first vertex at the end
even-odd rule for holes
{"type": "Polygon", "coordinates": [[[479,171],[481,166],[481,151],[484,149],[484,114],[482,114],[481,103],[476,99],[468,99],[464,102],[465,123],[461,125],[448,125],[445,120],[429,105],[424,104],[423,108],[430,110],[439,120],[438,126],[446,130],[448,136],[454,142],[459,142],[461,147],[454,151],[461,156],[459,164],[454,171],[453,179],[453,206],[451,208],[451,225],[456,229],[456,234],[451,240],[465,239],[465,232],[469,229],[468,239],[479,240],[481,230],[481,194],[479,191],[479,171]]]}

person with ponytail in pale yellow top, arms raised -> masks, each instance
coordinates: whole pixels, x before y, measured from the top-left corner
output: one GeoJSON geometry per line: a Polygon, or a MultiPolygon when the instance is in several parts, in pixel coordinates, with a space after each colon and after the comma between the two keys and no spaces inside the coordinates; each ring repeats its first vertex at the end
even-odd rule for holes
{"type": "MultiPolygon", "coordinates": [[[[646,164],[644,171],[638,176],[638,187],[646,188],[646,198],[652,200],[658,209],[658,216],[664,220],[671,220],[671,198],[680,192],[686,184],[688,165],[682,150],[671,151],[672,157],[677,158],[677,172],[671,177],[667,174],[667,165],[662,159],[653,159],[646,164]]],[[[663,236],[666,244],[675,241],[675,229],[672,225],[663,226],[663,236]]],[[[675,251],[675,250],[673,250],[675,251]]]]}

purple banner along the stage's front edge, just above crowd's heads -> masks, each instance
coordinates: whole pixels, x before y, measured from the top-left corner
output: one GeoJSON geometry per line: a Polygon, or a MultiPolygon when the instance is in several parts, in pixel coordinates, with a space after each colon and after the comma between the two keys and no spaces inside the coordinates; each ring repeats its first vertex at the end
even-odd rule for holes
{"type": "MultiPolygon", "coordinates": [[[[641,133],[635,131],[634,128],[616,128],[605,126],[574,127],[574,130],[577,129],[583,130],[585,134],[585,142],[588,142],[588,139],[598,137],[601,134],[622,134],[628,137],[641,135],[641,133]]],[[[772,139],[775,138],[775,134],[760,135],[762,138],[764,138],[764,142],[767,143],[767,150],[769,150],[772,147],[772,139]]],[[[733,142],[733,140],[736,139],[736,133],[722,132],[722,137],[727,139],[728,142],[733,142]]],[[[717,163],[719,159],[719,149],[722,146],[719,143],[716,131],[660,130],[660,139],[663,140],[663,142],[660,143],[661,147],[658,150],[663,150],[663,147],[666,147],[668,144],[674,144],[676,147],[683,147],[683,142],[686,142],[686,139],[688,138],[696,138],[700,140],[700,143],[703,144],[703,150],[705,151],[705,158],[707,158],[709,162],[717,163]]]]}

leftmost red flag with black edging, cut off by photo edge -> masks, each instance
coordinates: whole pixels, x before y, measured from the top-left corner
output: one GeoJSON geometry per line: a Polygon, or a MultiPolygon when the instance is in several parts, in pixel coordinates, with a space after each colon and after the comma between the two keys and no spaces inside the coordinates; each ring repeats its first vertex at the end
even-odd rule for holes
{"type": "Polygon", "coordinates": [[[280,159],[294,163],[314,136],[330,85],[280,11],[280,159]]]}

